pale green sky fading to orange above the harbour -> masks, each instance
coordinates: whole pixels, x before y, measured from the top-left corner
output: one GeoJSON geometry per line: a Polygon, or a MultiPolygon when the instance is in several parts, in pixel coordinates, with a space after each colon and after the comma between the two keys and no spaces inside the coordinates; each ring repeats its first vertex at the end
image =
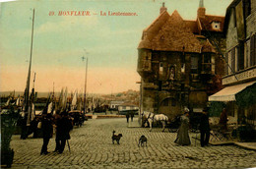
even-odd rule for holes
{"type": "MultiPolygon", "coordinates": [[[[0,91],[23,91],[31,52],[32,9],[35,10],[32,73],[35,90],[67,86],[84,90],[88,57],[90,93],[139,90],[136,72],[142,31],[160,15],[162,0],[36,0],[0,4],[0,91]],[[89,11],[91,16],[58,16],[59,11],[89,11]],[[137,16],[100,16],[132,12],[137,16]],[[54,16],[49,13],[54,12],[54,16]],[[96,14],[96,15],[93,15],[96,14]]],[[[224,16],[231,0],[204,0],[206,14],[224,16]]],[[[195,20],[199,0],[167,0],[184,20],[195,20]]]]}

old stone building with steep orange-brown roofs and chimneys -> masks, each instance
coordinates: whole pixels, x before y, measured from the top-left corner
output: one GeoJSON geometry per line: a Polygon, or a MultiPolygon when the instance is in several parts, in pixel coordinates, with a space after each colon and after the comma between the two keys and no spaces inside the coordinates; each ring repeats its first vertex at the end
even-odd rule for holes
{"type": "Polygon", "coordinates": [[[141,111],[170,118],[184,106],[200,112],[208,96],[219,90],[224,75],[224,17],[206,15],[200,1],[196,21],[183,20],[177,11],[160,16],[143,30],[138,46],[141,111]],[[219,76],[220,77],[220,76],[219,76]]]}

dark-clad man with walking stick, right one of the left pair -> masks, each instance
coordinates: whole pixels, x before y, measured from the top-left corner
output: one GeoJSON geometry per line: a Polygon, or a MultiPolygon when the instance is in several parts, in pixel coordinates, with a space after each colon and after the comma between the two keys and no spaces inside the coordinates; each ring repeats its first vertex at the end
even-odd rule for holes
{"type": "Polygon", "coordinates": [[[69,132],[73,129],[72,122],[68,117],[67,111],[62,112],[62,116],[57,120],[56,126],[56,147],[54,151],[62,153],[65,148],[66,141],[70,140],[69,132]]]}

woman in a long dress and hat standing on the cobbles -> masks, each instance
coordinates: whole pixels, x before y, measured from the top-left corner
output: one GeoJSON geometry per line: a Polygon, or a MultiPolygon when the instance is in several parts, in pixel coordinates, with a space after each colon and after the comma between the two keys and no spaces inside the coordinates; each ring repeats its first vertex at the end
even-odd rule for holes
{"type": "Polygon", "coordinates": [[[189,109],[187,107],[184,108],[184,114],[180,117],[181,125],[177,131],[177,138],[174,141],[180,145],[190,145],[191,141],[188,135],[189,129],[189,109]]]}

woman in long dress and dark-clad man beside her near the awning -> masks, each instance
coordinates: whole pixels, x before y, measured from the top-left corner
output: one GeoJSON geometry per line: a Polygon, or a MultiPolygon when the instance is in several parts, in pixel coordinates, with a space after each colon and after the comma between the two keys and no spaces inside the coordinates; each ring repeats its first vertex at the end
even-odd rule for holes
{"type": "MultiPolygon", "coordinates": [[[[181,125],[177,131],[177,138],[174,141],[180,145],[190,145],[191,141],[188,135],[189,130],[189,109],[187,107],[184,108],[184,114],[180,117],[181,125]]],[[[205,108],[202,112],[199,130],[201,134],[200,143],[201,146],[206,146],[209,143],[210,139],[210,125],[209,125],[209,115],[207,109],[205,108]]]]}

